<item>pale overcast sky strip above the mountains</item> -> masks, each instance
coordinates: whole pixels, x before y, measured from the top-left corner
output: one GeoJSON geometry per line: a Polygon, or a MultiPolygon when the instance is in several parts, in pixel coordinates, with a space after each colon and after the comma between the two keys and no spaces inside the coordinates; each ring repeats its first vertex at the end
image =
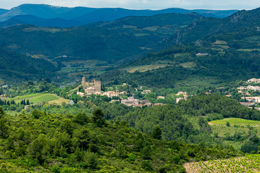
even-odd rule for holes
{"type": "Polygon", "coordinates": [[[185,8],[212,10],[251,10],[260,7],[260,0],[0,0],[0,8],[10,9],[24,3],[64,7],[121,7],[127,9],[185,8]]]}

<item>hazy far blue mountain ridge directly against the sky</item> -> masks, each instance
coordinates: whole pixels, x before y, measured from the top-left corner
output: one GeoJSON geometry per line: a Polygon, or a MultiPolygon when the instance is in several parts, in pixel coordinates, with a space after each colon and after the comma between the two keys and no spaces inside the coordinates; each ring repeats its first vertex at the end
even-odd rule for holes
{"type": "Polygon", "coordinates": [[[226,17],[238,10],[186,10],[168,8],[163,10],[128,10],[123,8],[88,8],[88,7],[58,7],[46,4],[22,4],[11,10],[0,9],[0,21],[8,20],[17,15],[33,15],[44,19],[63,18],[84,22],[113,21],[125,16],[151,16],[161,13],[190,13],[196,12],[211,17],[226,17]],[[216,15],[216,16],[214,16],[216,15]]]}

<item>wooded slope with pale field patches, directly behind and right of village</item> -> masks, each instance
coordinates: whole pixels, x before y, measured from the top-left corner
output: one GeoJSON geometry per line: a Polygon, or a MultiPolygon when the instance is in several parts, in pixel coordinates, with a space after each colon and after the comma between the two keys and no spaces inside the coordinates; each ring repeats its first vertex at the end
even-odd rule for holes
{"type": "MultiPolygon", "coordinates": [[[[196,80],[204,78],[209,79],[204,86],[209,86],[224,81],[246,80],[260,75],[258,50],[253,52],[225,50],[223,53],[219,52],[220,50],[198,47],[194,44],[171,46],[161,52],[148,53],[145,57],[131,61],[99,77],[107,83],[113,83],[113,80],[117,79],[119,82],[135,82],[153,88],[174,88],[175,84],[196,85],[198,83],[196,80]],[[208,53],[210,56],[196,56],[197,52],[208,53]],[[161,64],[165,66],[157,69],[149,66],[156,67],[161,64]],[[142,68],[144,70],[140,71],[142,68]],[[129,72],[129,69],[137,70],[129,72]]],[[[200,87],[204,88],[204,86],[200,87]]]]}

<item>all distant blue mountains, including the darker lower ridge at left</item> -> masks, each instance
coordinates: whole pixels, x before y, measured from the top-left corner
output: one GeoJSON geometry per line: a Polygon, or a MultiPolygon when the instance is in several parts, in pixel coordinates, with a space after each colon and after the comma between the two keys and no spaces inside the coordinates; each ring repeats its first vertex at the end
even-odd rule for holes
{"type": "Polygon", "coordinates": [[[0,9],[0,27],[28,23],[39,27],[73,27],[98,21],[113,21],[125,16],[152,16],[164,13],[191,13],[223,18],[238,10],[128,10],[123,8],[57,7],[45,4],[22,4],[10,10],[0,9]],[[16,20],[14,20],[16,19],[16,20]],[[11,22],[10,22],[11,20],[11,22]]]}

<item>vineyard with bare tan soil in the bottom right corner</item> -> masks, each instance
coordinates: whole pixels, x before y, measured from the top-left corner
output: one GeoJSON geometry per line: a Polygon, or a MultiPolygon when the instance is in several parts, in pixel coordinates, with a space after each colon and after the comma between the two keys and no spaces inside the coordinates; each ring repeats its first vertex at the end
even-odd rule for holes
{"type": "Polygon", "coordinates": [[[223,160],[210,160],[205,162],[185,163],[183,167],[187,173],[224,173],[224,172],[241,172],[253,173],[259,172],[260,155],[246,155],[223,160]]]}

